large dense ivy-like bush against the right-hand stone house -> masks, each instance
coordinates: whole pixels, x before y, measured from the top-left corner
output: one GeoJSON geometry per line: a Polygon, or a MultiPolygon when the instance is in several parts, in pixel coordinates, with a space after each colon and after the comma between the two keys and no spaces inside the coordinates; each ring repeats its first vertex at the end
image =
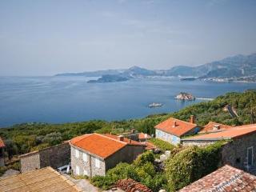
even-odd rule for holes
{"type": "Polygon", "coordinates": [[[191,182],[218,169],[220,150],[225,142],[201,147],[192,146],[180,151],[166,162],[166,175],[171,191],[176,191],[191,182]]]}

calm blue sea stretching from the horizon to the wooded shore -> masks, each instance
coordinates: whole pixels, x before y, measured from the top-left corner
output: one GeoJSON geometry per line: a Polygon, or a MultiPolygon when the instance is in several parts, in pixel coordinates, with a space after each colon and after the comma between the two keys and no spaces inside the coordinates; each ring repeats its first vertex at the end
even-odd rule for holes
{"type": "Polygon", "coordinates": [[[86,83],[84,77],[0,77],[0,127],[22,122],[122,120],[170,113],[204,100],[182,102],[180,92],[215,98],[230,91],[255,89],[255,83],[179,81],[144,78],[128,82],[86,83]],[[151,102],[162,107],[148,108],[151,102]]]}

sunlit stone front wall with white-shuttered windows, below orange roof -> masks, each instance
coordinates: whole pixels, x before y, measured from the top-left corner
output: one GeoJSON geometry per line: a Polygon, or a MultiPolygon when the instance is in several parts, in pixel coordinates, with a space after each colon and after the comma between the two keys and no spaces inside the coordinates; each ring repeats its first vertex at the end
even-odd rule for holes
{"type": "Polygon", "coordinates": [[[82,150],[76,146],[71,145],[71,167],[73,170],[73,174],[78,175],[87,175],[89,177],[93,177],[95,175],[105,175],[106,174],[106,166],[105,161],[102,158],[98,158],[93,154],[90,154],[88,151],[82,150]],[[75,150],[78,150],[78,157],[75,155],[75,150]],[[87,155],[87,161],[84,161],[83,154],[87,155]],[[96,159],[100,162],[99,168],[96,167],[96,159]],[[76,169],[79,169],[79,174],[76,169]]]}

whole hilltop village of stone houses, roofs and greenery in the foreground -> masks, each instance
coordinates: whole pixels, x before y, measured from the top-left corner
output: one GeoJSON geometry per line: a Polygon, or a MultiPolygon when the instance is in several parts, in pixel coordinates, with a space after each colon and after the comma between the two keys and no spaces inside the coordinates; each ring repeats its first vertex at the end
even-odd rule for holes
{"type": "MultiPolygon", "coordinates": [[[[228,114],[226,104],[226,117],[241,118],[241,113],[228,114]]],[[[251,122],[243,125],[202,125],[199,113],[186,117],[162,119],[154,130],[143,132],[130,127],[119,133],[105,128],[102,133],[77,134],[13,157],[12,162],[4,135],[0,191],[255,191],[253,110],[251,122]]]]}

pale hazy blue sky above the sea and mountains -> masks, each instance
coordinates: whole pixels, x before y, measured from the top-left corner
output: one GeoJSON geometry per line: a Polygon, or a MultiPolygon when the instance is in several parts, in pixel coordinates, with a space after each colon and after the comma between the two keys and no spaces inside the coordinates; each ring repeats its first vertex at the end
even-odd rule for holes
{"type": "Polygon", "coordinates": [[[166,70],[256,52],[255,0],[0,0],[0,75],[166,70]]]}

